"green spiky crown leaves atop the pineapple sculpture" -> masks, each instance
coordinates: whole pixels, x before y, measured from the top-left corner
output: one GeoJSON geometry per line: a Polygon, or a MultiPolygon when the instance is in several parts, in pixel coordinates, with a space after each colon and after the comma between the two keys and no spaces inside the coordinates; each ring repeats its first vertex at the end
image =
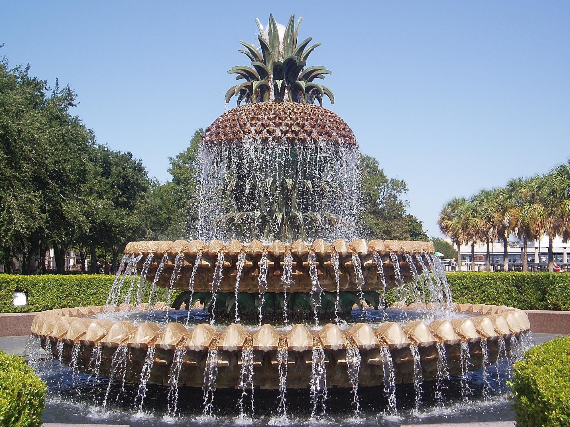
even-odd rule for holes
{"type": "Polygon", "coordinates": [[[331,89],[325,85],[315,83],[315,79],[324,79],[326,74],[332,72],[322,65],[305,68],[307,58],[320,43],[307,47],[312,38],[309,37],[297,44],[299,26],[303,18],[299,18],[295,26],[295,15],[291,15],[283,33],[283,40],[279,38],[277,23],[273,15],[269,15],[267,31],[259,19],[255,19],[259,27],[259,52],[254,46],[240,40],[245,49],[238,52],[250,59],[251,67],[239,65],[227,73],[236,74],[236,80],[245,80],[231,87],[226,92],[226,102],[237,96],[237,105],[263,101],[274,102],[300,102],[314,104],[319,102],[323,106],[323,97],[326,95],[331,104],[335,103],[335,96],[331,89]]]}

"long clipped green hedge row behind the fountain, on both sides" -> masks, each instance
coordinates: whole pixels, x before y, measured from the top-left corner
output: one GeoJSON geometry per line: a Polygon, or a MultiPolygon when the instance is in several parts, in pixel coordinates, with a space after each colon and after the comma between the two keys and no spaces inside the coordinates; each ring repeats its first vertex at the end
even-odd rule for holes
{"type": "MultiPolygon", "coordinates": [[[[0,274],[0,313],[102,305],[114,276],[101,274],[22,276],[0,274]],[[26,291],[28,305],[14,307],[13,293],[26,291]]],[[[523,310],[570,310],[570,274],[457,272],[447,275],[455,302],[507,305],[523,310]]],[[[123,286],[123,291],[128,288],[123,286]]],[[[173,293],[175,298],[178,293],[173,293]]],[[[386,295],[394,301],[393,291],[386,295]]],[[[122,299],[121,299],[122,301],[122,299]]]]}

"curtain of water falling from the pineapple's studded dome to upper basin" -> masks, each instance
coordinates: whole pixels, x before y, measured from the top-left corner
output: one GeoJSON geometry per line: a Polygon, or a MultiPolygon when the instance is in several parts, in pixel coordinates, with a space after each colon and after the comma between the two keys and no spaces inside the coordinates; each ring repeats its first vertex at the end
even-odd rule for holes
{"type": "Polygon", "coordinates": [[[201,144],[198,162],[203,241],[357,237],[357,146],[247,137],[201,144]]]}

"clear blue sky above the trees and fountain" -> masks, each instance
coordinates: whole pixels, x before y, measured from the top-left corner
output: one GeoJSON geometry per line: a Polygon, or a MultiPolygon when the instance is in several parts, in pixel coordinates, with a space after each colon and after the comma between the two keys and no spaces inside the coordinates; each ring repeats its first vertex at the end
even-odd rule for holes
{"type": "Polygon", "coordinates": [[[453,196],[544,173],[570,155],[570,2],[5,2],[0,50],[78,93],[100,143],[169,179],[168,157],[223,113],[254,18],[304,18],[323,46],[325,104],[363,153],[409,186],[439,235],[453,196]]]}

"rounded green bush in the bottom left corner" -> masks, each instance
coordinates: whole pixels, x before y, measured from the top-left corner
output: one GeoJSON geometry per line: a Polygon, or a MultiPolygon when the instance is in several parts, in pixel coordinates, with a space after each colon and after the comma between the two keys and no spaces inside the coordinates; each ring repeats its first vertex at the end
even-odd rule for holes
{"type": "Polygon", "coordinates": [[[41,425],[46,383],[22,358],[0,351],[0,426],[41,425]]]}

